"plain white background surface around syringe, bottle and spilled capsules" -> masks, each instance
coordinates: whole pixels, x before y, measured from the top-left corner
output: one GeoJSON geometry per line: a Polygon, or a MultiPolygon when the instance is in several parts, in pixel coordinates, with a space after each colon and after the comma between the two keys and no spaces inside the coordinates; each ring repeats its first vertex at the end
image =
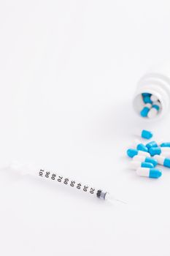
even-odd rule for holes
{"type": "Polygon", "coordinates": [[[0,1],[1,166],[18,159],[108,189],[120,203],[1,169],[0,255],[170,255],[170,173],[128,170],[140,76],[170,59],[169,0],[0,1]]]}

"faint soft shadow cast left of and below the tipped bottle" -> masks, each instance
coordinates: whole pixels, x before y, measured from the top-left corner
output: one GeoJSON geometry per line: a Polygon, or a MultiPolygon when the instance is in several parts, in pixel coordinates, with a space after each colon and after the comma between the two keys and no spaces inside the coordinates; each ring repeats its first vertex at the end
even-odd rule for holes
{"type": "MultiPolygon", "coordinates": [[[[131,102],[121,102],[116,108],[105,109],[95,120],[95,132],[98,139],[103,138],[129,138],[140,135],[142,129],[154,129],[160,126],[160,120],[147,120],[138,116],[131,102]]],[[[166,118],[163,118],[166,121],[166,118]]],[[[95,135],[94,135],[95,136],[95,135]]],[[[130,138],[131,141],[131,138],[130,138]]]]}

